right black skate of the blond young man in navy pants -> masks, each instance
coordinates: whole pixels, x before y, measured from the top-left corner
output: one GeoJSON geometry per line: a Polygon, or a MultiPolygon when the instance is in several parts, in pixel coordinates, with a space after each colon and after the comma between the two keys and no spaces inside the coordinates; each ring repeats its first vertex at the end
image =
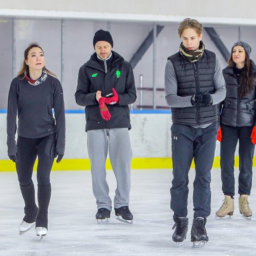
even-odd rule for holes
{"type": "Polygon", "coordinates": [[[191,228],[191,242],[193,242],[192,248],[203,247],[209,238],[205,229],[206,219],[203,217],[197,217],[193,219],[191,228]]]}

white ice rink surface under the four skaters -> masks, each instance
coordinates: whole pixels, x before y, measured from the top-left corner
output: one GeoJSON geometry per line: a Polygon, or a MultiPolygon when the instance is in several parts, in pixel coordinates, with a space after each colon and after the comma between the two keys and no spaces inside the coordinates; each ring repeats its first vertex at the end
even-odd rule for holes
{"type": "MultiPolygon", "coordinates": [[[[221,206],[220,170],[212,169],[211,215],[206,230],[209,242],[203,248],[191,248],[193,221],[193,180],[189,172],[187,239],[180,248],[172,241],[173,212],[170,210],[171,169],[132,170],[130,209],[134,223],[115,219],[114,207],[108,224],[97,224],[96,203],[90,171],[52,172],[52,198],[49,207],[48,235],[40,241],[31,229],[19,236],[24,202],[17,175],[0,173],[0,255],[256,255],[256,176],[249,197],[254,216],[245,220],[239,213],[238,195],[234,198],[232,218],[215,219],[221,206]]],[[[33,174],[34,184],[35,173],[33,174]]],[[[236,170],[236,193],[238,191],[236,170]]],[[[115,193],[115,177],[107,172],[110,196],[115,193]]]]}

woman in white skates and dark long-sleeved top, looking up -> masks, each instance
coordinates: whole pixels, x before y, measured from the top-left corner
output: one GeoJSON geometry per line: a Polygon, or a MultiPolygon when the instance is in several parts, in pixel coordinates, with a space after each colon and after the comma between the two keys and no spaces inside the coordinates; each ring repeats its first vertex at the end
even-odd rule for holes
{"type": "Polygon", "coordinates": [[[16,163],[19,186],[25,202],[25,216],[19,231],[23,234],[35,226],[36,235],[41,238],[48,231],[51,168],[54,158],[58,156],[59,162],[65,150],[63,91],[59,80],[54,76],[45,67],[44,51],[34,42],[24,52],[22,67],[11,82],[8,97],[8,156],[16,163]],[[36,157],[38,207],[32,181],[36,157]]]}

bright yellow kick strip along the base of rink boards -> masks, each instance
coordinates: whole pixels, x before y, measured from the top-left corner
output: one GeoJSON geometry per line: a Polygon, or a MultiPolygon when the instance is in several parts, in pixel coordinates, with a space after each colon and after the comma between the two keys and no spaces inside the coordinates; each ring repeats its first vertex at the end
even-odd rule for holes
{"type": "MultiPolygon", "coordinates": [[[[172,158],[133,158],[132,169],[157,169],[157,168],[172,168],[173,162],[172,158]]],[[[239,157],[234,158],[234,167],[239,166],[239,157]]],[[[256,166],[256,157],[253,158],[253,166],[256,166]]],[[[37,167],[37,160],[34,166],[34,170],[37,167]]],[[[194,168],[194,161],[191,164],[194,168]]],[[[220,157],[214,158],[213,168],[220,167],[220,157]]],[[[89,159],[62,159],[60,163],[54,164],[52,170],[90,170],[90,160],[89,159]]],[[[112,169],[110,160],[106,160],[106,169],[112,169]]],[[[0,160],[0,172],[13,172],[15,171],[15,164],[11,160],[0,160]]]]}

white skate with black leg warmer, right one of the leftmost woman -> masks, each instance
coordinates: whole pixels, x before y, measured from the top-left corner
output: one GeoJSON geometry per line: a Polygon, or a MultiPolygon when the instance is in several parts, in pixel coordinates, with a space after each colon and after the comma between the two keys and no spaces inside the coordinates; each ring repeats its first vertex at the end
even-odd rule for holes
{"type": "Polygon", "coordinates": [[[35,231],[36,236],[40,236],[42,240],[43,236],[47,235],[48,230],[48,207],[51,198],[51,184],[47,186],[39,186],[37,190],[37,199],[38,199],[38,214],[35,222],[35,231]]]}

